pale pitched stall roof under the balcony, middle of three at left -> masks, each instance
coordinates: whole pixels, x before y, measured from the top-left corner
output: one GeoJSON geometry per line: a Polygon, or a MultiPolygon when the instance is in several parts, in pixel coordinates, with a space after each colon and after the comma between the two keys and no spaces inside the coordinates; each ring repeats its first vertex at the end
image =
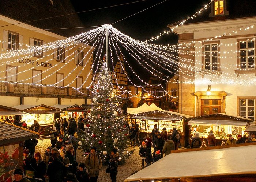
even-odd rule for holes
{"type": "Polygon", "coordinates": [[[18,105],[12,108],[19,109],[23,112],[30,114],[48,114],[48,113],[60,113],[60,109],[56,107],[41,105],[18,105]]]}

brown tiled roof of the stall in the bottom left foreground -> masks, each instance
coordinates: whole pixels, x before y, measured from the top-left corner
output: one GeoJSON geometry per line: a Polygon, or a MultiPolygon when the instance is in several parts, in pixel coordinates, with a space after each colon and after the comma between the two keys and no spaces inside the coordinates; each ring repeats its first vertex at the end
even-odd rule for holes
{"type": "Polygon", "coordinates": [[[15,143],[23,140],[39,138],[39,133],[0,121],[0,144],[15,143]]]}

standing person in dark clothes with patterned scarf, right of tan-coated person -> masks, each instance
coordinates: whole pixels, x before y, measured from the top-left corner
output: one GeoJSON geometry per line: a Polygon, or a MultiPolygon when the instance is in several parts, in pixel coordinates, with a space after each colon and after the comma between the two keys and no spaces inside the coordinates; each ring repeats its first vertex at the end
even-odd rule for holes
{"type": "Polygon", "coordinates": [[[110,178],[112,182],[116,182],[117,166],[118,166],[118,152],[116,148],[111,150],[109,167],[110,167],[110,178]]]}

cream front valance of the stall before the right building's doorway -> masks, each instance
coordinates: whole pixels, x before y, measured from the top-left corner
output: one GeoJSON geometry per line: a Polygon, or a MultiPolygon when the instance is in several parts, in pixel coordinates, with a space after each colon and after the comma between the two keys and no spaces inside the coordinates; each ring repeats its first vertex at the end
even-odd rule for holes
{"type": "Polygon", "coordinates": [[[229,125],[229,126],[246,126],[247,122],[237,120],[219,120],[219,119],[192,119],[188,124],[196,125],[229,125]]]}

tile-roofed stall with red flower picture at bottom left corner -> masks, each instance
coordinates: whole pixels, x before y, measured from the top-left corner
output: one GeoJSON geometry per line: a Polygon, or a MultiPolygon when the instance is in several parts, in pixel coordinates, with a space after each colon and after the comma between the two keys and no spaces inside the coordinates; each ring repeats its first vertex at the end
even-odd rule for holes
{"type": "Polygon", "coordinates": [[[13,181],[15,169],[23,169],[23,141],[39,138],[39,133],[0,121],[0,181],[13,181]]]}

